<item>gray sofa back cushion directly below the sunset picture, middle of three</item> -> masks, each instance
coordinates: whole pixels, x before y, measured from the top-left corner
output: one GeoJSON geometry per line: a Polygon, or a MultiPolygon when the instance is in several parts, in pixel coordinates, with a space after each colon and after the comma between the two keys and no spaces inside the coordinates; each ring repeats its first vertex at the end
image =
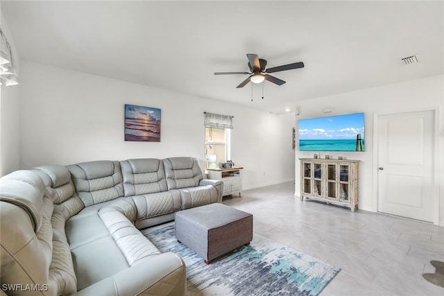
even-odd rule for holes
{"type": "Polygon", "coordinates": [[[125,196],[167,191],[164,163],[160,159],[127,159],[120,162],[125,196]]]}

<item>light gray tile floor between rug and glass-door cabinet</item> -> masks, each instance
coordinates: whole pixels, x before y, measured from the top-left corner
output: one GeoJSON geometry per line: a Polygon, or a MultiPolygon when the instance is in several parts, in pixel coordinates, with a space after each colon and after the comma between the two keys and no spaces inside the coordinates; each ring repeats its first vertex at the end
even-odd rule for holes
{"type": "Polygon", "coordinates": [[[444,227],[301,202],[293,191],[266,186],[223,203],[253,214],[253,231],[341,268],[321,296],[444,295],[422,278],[444,261],[444,227]]]}

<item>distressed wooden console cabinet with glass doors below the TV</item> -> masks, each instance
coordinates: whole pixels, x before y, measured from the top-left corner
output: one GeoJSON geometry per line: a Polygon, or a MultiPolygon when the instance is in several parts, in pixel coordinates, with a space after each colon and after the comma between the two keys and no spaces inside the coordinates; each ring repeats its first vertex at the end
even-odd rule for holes
{"type": "Polygon", "coordinates": [[[300,158],[300,200],[358,208],[359,160],[300,158]]]}

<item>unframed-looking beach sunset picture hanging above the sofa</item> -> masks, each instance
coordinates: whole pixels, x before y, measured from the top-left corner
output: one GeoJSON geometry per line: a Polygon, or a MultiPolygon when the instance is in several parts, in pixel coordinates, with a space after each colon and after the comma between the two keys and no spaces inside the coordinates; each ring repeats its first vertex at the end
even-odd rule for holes
{"type": "Polygon", "coordinates": [[[125,104],[125,141],[160,142],[160,109],[125,104]]]}

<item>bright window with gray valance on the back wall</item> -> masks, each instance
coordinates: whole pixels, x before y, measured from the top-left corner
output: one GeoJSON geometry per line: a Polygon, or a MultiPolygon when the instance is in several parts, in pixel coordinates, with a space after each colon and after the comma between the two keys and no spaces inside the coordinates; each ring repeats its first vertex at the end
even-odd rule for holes
{"type": "Polygon", "coordinates": [[[230,155],[232,116],[205,112],[205,168],[219,168],[230,155]]]}

